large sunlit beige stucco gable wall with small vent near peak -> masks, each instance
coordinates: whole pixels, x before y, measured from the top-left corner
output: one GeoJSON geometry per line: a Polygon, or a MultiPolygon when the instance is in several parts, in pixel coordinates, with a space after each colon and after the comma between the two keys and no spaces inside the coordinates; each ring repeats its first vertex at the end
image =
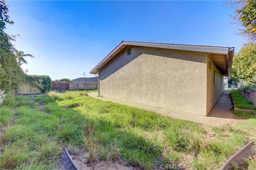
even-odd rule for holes
{"type": "Polygon", "coordinates": [[[206,115],[206,63],[206,53],[125,48],[99,71],[99,95],[206,115]]]}

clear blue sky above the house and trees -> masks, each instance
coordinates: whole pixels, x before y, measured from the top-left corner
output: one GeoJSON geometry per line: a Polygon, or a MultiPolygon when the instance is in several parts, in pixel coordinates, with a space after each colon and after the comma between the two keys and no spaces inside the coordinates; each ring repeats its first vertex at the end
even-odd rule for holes
{"type": "Polygon", "coordinates": [[[236,47],[245,40],[222,1],[7,1],[28,74],[55,79],[90,71],[122,40],[236,47]]]}

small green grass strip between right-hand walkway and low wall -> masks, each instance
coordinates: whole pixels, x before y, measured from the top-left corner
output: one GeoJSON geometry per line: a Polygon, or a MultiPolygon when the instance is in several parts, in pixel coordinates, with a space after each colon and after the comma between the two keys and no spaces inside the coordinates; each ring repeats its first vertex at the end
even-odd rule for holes
{"type": "Polygon", "coordinates": [[[235,107],[256,110],[256,106],[252,104],[252,101],[247,100],[240,94],[239,90],[231,91],[231,95],[235,101],[235,107]]]}

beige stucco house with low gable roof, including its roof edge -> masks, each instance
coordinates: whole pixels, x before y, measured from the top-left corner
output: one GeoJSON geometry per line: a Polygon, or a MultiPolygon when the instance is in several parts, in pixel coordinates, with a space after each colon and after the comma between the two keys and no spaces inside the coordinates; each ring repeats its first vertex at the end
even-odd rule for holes
{"type": "Polygon", "coordinates": [[[122,41],[91,73],[99,96],[206,116],[233,55],[229,47],[122,41]]]}

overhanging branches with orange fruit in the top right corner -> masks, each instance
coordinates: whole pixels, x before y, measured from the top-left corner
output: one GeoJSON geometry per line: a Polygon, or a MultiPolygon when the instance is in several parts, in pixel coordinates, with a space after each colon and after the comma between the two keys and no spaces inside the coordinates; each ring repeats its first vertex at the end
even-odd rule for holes
{"type": "Polygon", "coordinates": [[[242,25],[241,33],[249,37],[250,41],[256,40],[256,1],[238,0],[229,1],[229,5],[236,7],[234,22],[242,25]]]}

